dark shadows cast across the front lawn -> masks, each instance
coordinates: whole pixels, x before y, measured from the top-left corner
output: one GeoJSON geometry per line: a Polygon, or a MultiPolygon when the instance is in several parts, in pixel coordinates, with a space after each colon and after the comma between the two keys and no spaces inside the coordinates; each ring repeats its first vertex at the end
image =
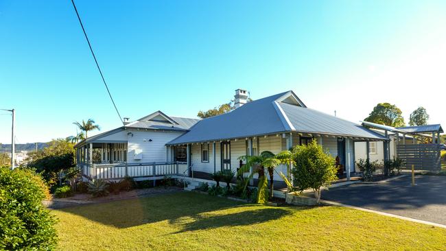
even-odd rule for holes
{"type": "Polygon", "coordinates": [[[258,207],[256,204],[244,204],[198,193],[174,193],[151,198],[63,208],[59,211],[117,228],[130,228],[165,220],[168,220],[169,224],[181,224],[183,219],[196,219],[185,227],[186,230],[255,224],[278,219],[287,214],[287,211],[280,208],[258,209],[256,207],[258,207]],[[248,211],[209,218],[202,215],[239,206],[248,208],[248,211]]]}

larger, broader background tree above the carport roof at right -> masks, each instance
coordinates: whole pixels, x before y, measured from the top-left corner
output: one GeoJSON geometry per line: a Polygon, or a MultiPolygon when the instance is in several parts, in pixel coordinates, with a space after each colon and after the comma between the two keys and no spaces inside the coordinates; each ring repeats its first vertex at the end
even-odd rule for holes
{"type": "Polygon", "coordinates": [[[364,121],[379,123],[381,125],[390,125],[401,127],[406,125],[402,116],[403,112],[397,106],[389,103],[379,103],[373,111],[364,119],[364,121]]]}

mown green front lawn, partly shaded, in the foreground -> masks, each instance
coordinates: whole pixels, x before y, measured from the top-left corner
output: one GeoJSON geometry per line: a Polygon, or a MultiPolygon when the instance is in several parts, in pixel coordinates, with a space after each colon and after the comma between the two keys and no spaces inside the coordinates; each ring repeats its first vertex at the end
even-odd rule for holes
{"type": "Polygon", "coordinates": [[[445,250],[446,229],[337,206],[198,193],[52,211],[60,250],[445,250]]]}

